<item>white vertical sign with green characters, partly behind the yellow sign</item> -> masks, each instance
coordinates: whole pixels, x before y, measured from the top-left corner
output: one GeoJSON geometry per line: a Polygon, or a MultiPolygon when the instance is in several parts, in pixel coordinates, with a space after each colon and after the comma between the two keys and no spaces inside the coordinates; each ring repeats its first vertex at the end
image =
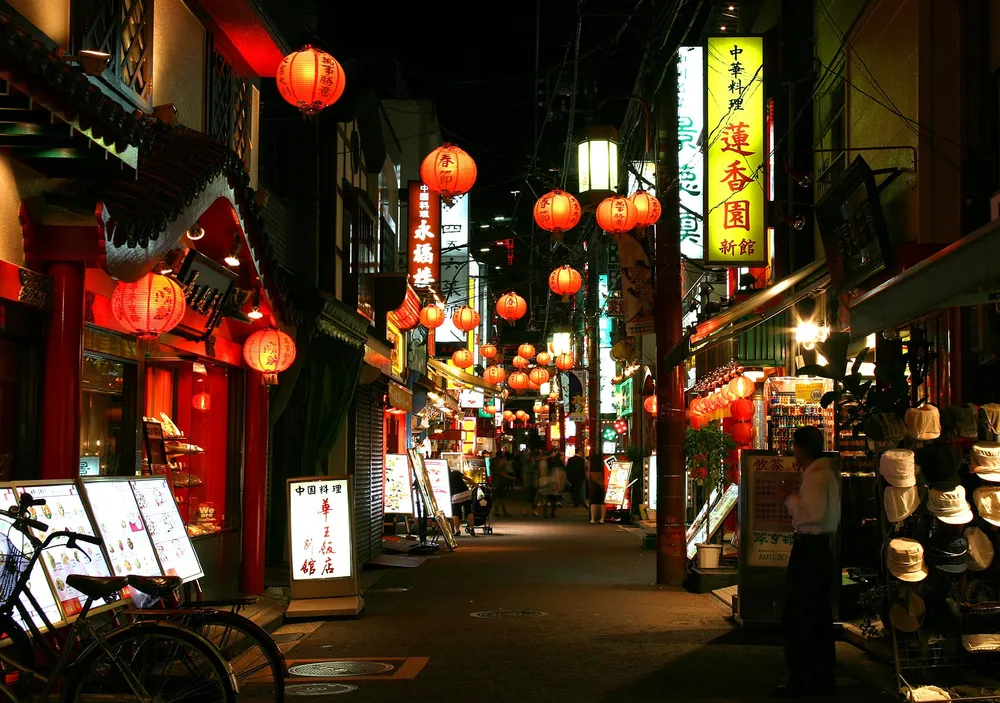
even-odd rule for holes
{"type": "Polygon", "coordinates": [[[681,204],[681,254],[700,259],[704,252],[705,212],[705,58],[700,46],[677,52],[677,165],[681,204]]]}

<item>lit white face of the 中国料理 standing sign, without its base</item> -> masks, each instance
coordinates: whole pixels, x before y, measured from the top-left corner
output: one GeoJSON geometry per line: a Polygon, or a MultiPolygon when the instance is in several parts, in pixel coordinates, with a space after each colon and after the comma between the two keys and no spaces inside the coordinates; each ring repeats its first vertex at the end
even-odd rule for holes
{"type": "Polygon", "coordinates": [[[353,575],[351,492],[346,478],[288,482],[292,579],[353,575]]]}

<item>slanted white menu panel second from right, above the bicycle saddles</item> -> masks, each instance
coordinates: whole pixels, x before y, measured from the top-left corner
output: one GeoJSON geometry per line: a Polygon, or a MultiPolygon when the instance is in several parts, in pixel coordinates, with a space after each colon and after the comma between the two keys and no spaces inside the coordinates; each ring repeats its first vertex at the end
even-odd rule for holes
{"type": "Polygon", "coordinates": [[[115,576],[162,576],[128,481],[84,481],[83,492],[115,576]]]}

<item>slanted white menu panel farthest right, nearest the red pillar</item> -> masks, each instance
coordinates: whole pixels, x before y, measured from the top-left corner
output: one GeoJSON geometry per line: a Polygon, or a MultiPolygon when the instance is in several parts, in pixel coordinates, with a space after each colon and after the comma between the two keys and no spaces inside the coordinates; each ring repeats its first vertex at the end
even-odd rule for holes
{"type": "Polygon", "coordinates": [[[163,573],[179,576],[185,583],[204,576],[167,479],[154,476],[132,479],[129,483],[163,573]]]}

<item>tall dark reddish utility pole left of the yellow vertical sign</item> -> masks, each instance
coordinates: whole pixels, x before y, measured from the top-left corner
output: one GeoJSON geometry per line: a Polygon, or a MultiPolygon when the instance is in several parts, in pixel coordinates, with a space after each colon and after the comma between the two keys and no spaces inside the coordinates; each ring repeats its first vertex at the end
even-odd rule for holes
{"type": "Polygon", "coordinates": [[[677,62],[657,95],[656,194],[663,216],[656,228],[656,582],[680,585],[687,575],[684,537],[684,367],[666,354],[681,340],[680,202],[677,197],[677,62]]]}

